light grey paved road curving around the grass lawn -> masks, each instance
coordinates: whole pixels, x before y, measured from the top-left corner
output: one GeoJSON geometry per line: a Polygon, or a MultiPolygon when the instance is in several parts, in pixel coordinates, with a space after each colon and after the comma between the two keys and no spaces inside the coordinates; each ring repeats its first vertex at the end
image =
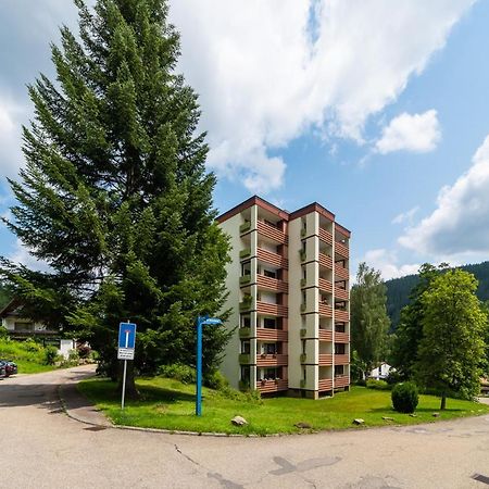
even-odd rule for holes
{"type": "Polygon", "coordinates": [[[279,438],[95,431],[57,397],[89,371],[0,381],[0,488],[489,487],[472,478],[489,477],[489,416],[279,438]]]}

